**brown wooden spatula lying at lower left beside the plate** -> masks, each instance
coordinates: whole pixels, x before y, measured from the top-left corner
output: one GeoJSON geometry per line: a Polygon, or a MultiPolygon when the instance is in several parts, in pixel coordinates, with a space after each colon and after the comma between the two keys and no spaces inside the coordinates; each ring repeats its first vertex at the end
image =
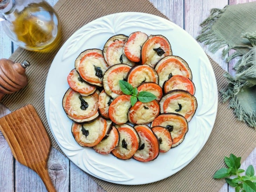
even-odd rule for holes
{"type": "Polygon", "coordinates": [[[39,174],[48,191],[55,191],[47,170],[51,142],[32,105],[0,118],[0,130],[14,158],[39,174]]]}

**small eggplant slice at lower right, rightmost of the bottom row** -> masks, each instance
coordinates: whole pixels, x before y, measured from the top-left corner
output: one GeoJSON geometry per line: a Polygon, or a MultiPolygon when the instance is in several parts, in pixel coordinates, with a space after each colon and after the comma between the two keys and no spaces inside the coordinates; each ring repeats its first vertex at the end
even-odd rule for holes
{"type": "Polygon", "coordinates": [[[171,133],[167,128],[163,126],[154,126],[151,130],[155,133],[159,140],[160,153],[166,153],[171,149],[173,144],[173,139],[171,138],[171,133]]]}

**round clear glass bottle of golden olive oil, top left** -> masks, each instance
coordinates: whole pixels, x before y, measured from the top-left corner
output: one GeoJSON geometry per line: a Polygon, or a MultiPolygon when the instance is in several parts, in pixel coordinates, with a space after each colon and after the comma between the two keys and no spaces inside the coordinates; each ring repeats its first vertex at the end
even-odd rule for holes
{"type": "Polygon", "coordinates": [[[54,9],[44,0],[26,0],[22,5],[18,0],[9,3],[11,9],[2,11],[6,34],[24,49],[49,51],[60,38],[60,20],[54,9]]]}

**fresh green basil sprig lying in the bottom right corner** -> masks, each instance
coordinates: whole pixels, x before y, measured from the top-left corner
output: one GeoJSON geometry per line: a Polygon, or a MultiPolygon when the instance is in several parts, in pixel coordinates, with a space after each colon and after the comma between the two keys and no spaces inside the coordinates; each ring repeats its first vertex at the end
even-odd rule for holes
{"type": "Polygon", "coordinates": [[[232,153],[230,157],[224,157],[225,164],[228,168],[224,167],[215,172],[214,179],[225,178],[226,182],[235,187],[235,191],[255,192],[256,191],[256,176],[254,175],[254,168],[249,165],[245,171],[245,175],[241,176],[244,170],[240,169],[241,157],[236,157],[232,153]],[[229,176],[237,176],[234,179],[227,178],[229,176]]]}

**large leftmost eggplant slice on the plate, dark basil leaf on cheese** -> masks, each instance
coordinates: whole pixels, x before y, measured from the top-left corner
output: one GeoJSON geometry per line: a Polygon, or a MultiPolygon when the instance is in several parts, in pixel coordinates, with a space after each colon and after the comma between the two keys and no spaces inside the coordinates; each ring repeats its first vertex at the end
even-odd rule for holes
{"type": "Polygon", "coordinates": [[[83,123],[99,116],[98,102],[99,96],[96,92],[89,96],[82,96],[69,88],[63,97],[62,106],[70,119],[83,123]]]}

